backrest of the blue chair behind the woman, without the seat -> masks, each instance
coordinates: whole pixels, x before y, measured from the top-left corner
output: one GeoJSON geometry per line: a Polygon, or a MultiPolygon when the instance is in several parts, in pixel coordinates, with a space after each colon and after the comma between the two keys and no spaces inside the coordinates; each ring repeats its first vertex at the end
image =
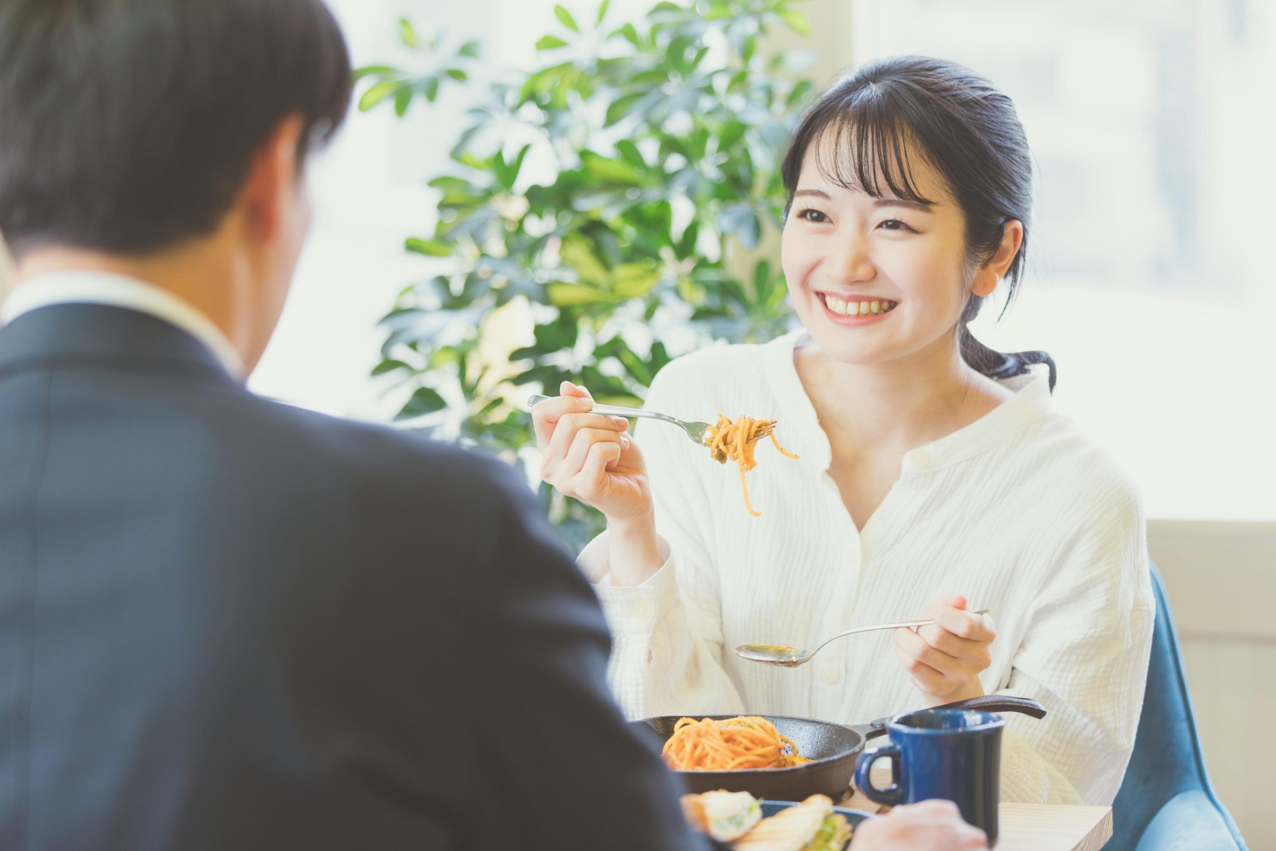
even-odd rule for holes
{"type": "Polygon", "coordinates": [[[1147,666],[1147,690],[1138,718],[1134,753],[1125,780],[1113,803],[1113,838],[1106,851],[1133,851],[1148,823],[1161,808],[1180,792],[1201,791],[1222,817],[1236,847],[1244,840],[1226,808],[1215,795],[1206,772],[1201,740],[1192,716],[1183,661],[1174,619],[1165,600],[1165,588],[1156,565],[1151,565],[1156,593],[1156,626],[1152,630],[1152,656],[1147,666]]]}

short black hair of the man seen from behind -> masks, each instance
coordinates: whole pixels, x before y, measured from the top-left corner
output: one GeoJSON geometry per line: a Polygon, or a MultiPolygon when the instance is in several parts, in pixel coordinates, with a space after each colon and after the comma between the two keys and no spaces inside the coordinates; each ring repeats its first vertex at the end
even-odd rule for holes
{"type": "Polygon", "coordinates": [[[346,116],[322,0],[0,0],[0,233],[151,254],[211,233],[291,115],[299,163],[346,116]]]}

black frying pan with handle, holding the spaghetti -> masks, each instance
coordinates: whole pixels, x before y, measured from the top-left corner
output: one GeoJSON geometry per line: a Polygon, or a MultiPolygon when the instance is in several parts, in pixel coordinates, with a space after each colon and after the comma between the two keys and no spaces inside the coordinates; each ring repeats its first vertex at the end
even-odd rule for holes
{"type": "MultiPolygon", "coordinates": [[[[1034,718],[1045,717],[1045,707],[1036,700],[1004,694],[988,694],[970,700],[947,703],[937,709],[984,709],[986,712],[1022,712],[1034,718]]],[[[674,734],[674,725],[684,716],[658,716],[633,723],[653,731],[660,744],[674,734]]],[[[729,714],[697,716],[708,718],[734,718],[729,714]]],[[[808,795],[828,795],[835,801],[850,788],[855,774],[855,759],[869,739],[886,735],[891,718],[878,718],[869,723],[845,726],[831,721],[794,718],[789,716],[763,716],[776,725],[782,735],[792,739],[798,753],[812,762],[792,768],[741,768],[736,771],[675,771],[686,791],[709,792],[725,788],[730,792],[749,792],[754,797],[773,801],[801,801],[808,795]]]]}

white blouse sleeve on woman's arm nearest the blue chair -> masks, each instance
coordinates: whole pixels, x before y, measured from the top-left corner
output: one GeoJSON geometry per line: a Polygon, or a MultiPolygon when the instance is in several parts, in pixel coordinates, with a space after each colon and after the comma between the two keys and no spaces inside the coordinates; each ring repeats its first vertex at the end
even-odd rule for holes
{"type": "Polygon", "coordinates": [[[1002,800],[1111,804],[1134,746],[1156,612],[1146,522],[1124,481],[1087,495],[1032,609],[999,690],[1040,700],[1048,716],[1005,716],[1002,800]]]}

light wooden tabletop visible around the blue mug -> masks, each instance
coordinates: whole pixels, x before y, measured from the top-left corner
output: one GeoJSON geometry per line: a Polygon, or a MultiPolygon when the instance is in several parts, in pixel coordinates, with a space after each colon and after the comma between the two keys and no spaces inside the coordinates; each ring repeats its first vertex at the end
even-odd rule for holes
{"type": "MultiPolygon", "coordinates": [[[[873,782],[891,785],[891,769],[873,769],[873,782]]],[[[859,792],[840,801],[866,813],[883,811],[859,792]]],[[[1099,851],[1113,834],[1113,808],[1057,804],[1002,804],[997,851],[1099,851]]]]}

